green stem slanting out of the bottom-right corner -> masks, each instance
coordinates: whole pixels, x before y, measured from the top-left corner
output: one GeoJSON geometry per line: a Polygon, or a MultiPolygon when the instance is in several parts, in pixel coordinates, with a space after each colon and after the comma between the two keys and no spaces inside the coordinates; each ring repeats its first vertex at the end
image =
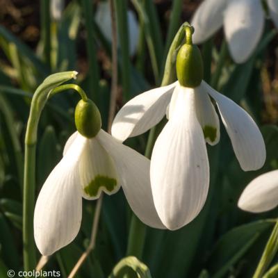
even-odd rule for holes
{"type": "Polygon", "coordinates": [[[268,239],[268,243],[265,246],[265,250],[263,251],[263,255],[261,256],[261,260],[259,265],[256,268],[256,271],[253,275],[253,278],[261,278],[265,270],[267,270],[268,266],[272,262],[272,259],[275,257],[278,251],[278,220],[275,224],[275,227],[272,230],[270,238],[268,239]]]}

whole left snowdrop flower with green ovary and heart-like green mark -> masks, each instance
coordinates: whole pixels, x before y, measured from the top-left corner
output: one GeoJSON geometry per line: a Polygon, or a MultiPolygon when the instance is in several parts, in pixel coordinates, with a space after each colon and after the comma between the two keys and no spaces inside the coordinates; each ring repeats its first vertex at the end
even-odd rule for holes
{"type": "Polygon", "coordinates": [[[81,225],[82,197],[111,195],[120,186],[142,222],[165,229],[154,208],[149,159],[102,130],[97,106],[89,99],[79,101],[75,120],[77,131],[67,140],[63,158],[35,205],[34,235],[40,253],[51,255],[74,240],[81,225]]]}

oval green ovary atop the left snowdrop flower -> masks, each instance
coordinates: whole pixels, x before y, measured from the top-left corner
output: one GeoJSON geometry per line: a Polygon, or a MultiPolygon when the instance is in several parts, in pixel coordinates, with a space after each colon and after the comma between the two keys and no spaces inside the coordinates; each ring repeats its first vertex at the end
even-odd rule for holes
{"type": "Polygon", "coordinates": [[[86,138],[93,138],[101,129],[101,115],[93,101],[81,99],[75,108],[77,131],[86,138]]]}

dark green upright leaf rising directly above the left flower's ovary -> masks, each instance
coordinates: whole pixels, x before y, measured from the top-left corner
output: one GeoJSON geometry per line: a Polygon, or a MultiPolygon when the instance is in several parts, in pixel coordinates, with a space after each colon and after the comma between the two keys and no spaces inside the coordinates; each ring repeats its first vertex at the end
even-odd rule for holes
{"type": "Polygon", "coordinates": [[[95,28],[92,24],[92,19],[94,18],[92,10],[92,1],[81,0],[81,6],[83,10],[83,16],[85,19],[85,29],[87,33],[86,48],[89,60],[89,72],[88,81],[90,83],[89,98],[95,101],[97,106],[99,105],[99,66],[97,64],[97,49],[95,47],[94,33],[95,28]],[[95,93],[94,93],[95,92],[95,93]]]}

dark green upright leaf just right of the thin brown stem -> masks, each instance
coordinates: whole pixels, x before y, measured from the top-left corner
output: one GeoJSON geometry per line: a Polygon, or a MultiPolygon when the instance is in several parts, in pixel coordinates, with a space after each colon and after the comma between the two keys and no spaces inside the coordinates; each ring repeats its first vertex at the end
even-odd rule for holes
{"type": "Polygon", "coordinates": [[[130,80],[131,80],[131,65],[129,60],[129,27],[127,24],[127,1],[114,0],[117,30],[119,33],[121,47],[121,65],[122,65],[122,87],[124,101],[129,99],[130,95],[130,80]]]}

